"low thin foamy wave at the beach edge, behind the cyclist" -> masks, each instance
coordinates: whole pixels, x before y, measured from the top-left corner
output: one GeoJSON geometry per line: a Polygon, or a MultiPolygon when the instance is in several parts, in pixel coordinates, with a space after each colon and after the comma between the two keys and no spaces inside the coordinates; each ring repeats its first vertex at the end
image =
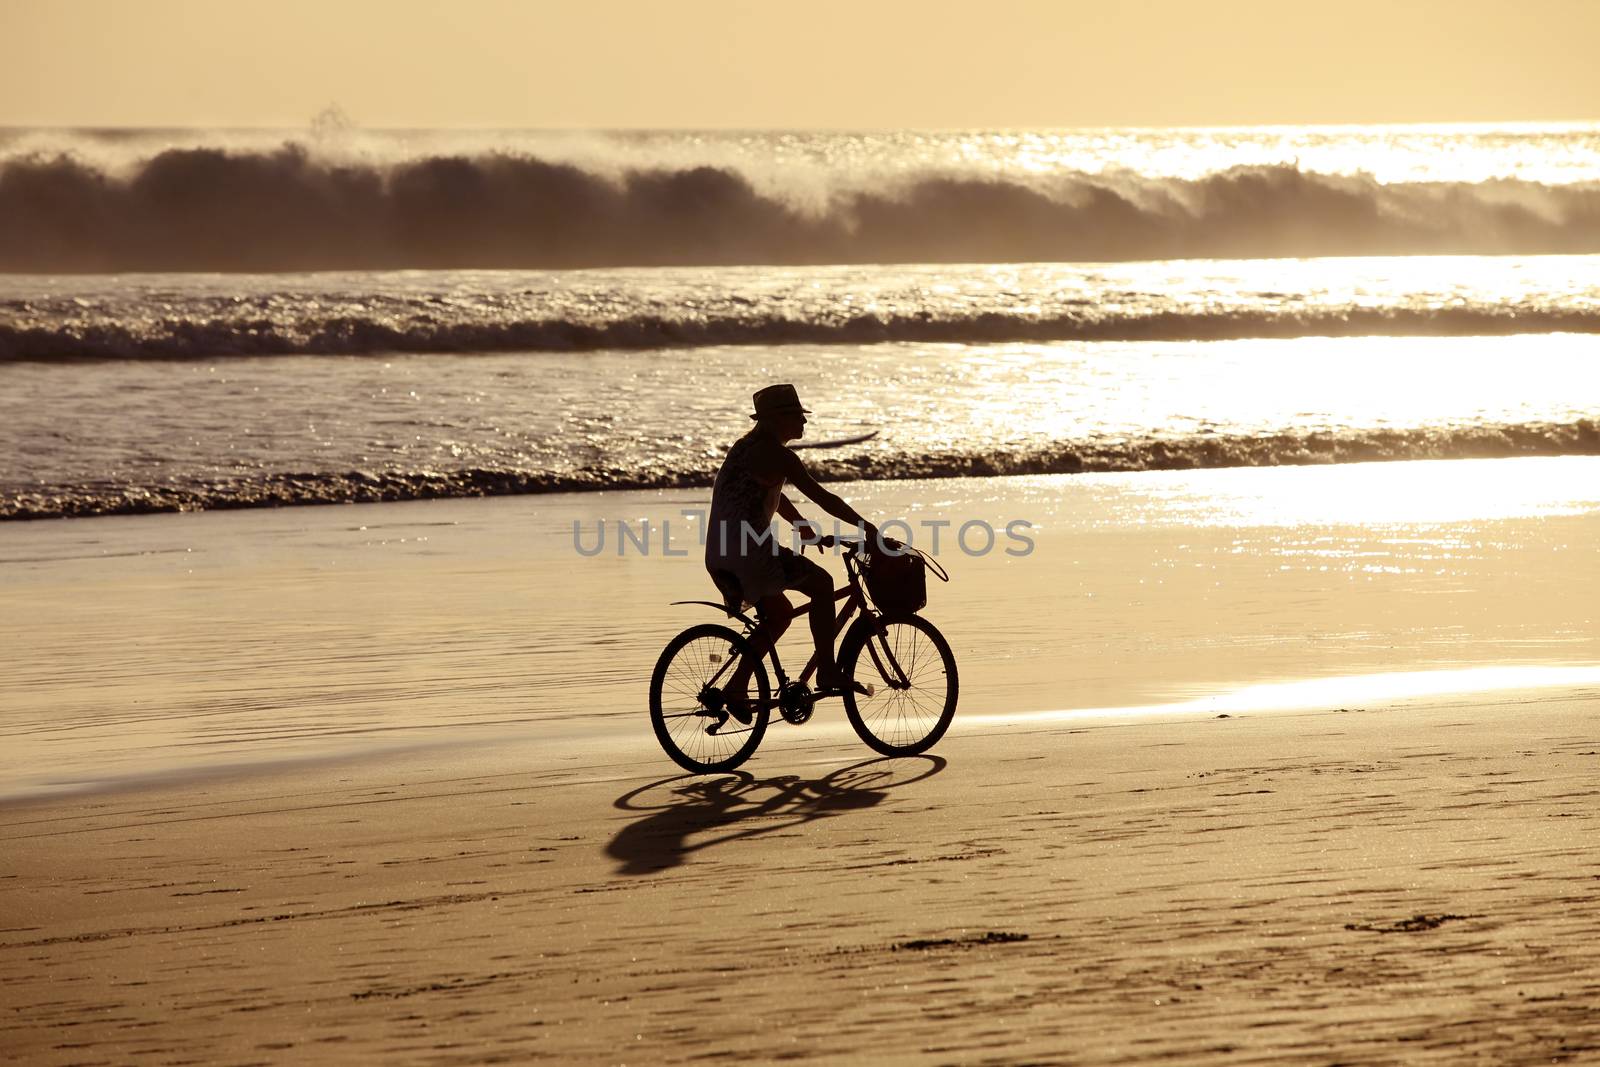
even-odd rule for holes
{"type": "MultiPolygon", "coordinates": [[[[808,461],[822,480],[890,480],[1272,467],[1395,459],[1502,459],[1600,454],[1600,421],[1411,430],[1202,435],[1126,443],[1062,442],[1048,448],[928,454],[861,451],[808,461]]],[[[595,490],[706,488],[715,470],[342,470],[264,474],[190,485],[61,486],[0,498],[0,520],[195,512],[296,504],[357,504],[437,498],[581,493],[595,490]]]]}

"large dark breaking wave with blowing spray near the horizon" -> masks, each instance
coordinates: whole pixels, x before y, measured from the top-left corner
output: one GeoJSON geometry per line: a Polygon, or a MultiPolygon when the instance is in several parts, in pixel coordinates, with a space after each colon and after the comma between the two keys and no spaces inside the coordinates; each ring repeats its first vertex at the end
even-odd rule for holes
{"type": "Polygon", "coordinates": [[[922,171],[786,198],[733,165],[586,170],[510,150],[394,163],[166,149],[0,160],[0,270],[1088,262],[1600,251],[1600,182],[922,171]]]}

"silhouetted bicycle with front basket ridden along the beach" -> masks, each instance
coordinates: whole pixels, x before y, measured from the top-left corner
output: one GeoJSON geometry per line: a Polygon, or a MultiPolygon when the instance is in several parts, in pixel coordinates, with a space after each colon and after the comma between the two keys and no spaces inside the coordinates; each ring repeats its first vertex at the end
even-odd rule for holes
{"type": "MultiPolygon", "coordinates": [[[[838,545],[845,560],[846,582],[834,592],[835,601],[845,601],[834,622],[834,637],[845,632],[851,616],[861,613],[838,646],[838,669],[846,680],[842,691],[811,689],[810,678],[818,667],[814,651],[798,678],[784,673],[776,646],[757,656],[750,643],[757,619],[744,611],[710,600],[672,601],[715,608],[730,621],[744,624],[742,632],[714,622],[691,625],[667,641],[656,661],[650,678],[650,723],[661,747],[683,769],[701,774],[731,771],[755,753],[774,709],[784,721],[800,726],[811,718],[818,701],[834,696],[843,697],[850,725],[882,755],[918,755],[950,728],[960,680],[949,641],[922,616],[885,614],[869,601],[862,589],[864,542],[822,537],[819,544],[838,545]],[[754,661],[749,725],[730,715],[718,685],[746,656],[754,661]],[[776,694],[763,659],[771,661],[776,694]]],[[[949,581],[936,563],[923,560],[949,581]]],[[[795,608],[795,616],[803,617],[808,609],[810,601],[795,608]]]]}

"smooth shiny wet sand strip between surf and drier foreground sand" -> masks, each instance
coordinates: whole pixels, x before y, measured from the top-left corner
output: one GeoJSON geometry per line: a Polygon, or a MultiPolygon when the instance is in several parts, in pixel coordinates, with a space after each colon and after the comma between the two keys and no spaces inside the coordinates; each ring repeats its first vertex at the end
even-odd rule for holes
{"type": "MultiPolygon", "coordinates": [[[[1597,464],[861,483],[851,499],[914,531],[1032,523],[1026,557],[946,542],[954,581],[926,614],[957,649],[963,715],[1171,712],[1261,685],[1600,664],[1600,576],[1571,566],[1597,536],[1597,464]]],[[[638,734],[654,656],[712,621],[669,603],[706,593],[699,553],[589,558],[574,525],[659,528],[698,506],[595,493],[0,526],[0,792],[638,734]]]]}

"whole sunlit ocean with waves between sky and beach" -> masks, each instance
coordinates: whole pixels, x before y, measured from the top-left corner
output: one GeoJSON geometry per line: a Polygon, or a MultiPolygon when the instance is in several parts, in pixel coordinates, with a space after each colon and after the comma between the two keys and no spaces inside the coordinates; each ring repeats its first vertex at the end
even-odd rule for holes
{"type": "Polygon", "coordinates": [[[1600,125],[0,131],[0,518],[1600,453],[1600,125]]]}

